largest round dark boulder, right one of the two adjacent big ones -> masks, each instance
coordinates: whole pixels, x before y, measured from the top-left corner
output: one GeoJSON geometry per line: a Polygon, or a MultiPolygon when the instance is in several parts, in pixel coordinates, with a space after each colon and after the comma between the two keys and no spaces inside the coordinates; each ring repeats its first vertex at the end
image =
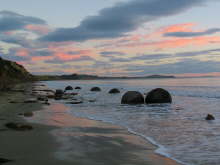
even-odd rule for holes
{"type": "Polygon", "coordinates": [[[146,98],[146,104],[172,103],[172,97],[168,91],[162,88],[156,88],[150,91],[146,98]]]}

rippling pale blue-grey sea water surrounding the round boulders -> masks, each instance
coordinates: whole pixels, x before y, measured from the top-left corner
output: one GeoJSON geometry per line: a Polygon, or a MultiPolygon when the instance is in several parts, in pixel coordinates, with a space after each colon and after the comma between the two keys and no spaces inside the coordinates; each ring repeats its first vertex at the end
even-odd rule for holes
{"type": "Polygon", "coordinates": [[[176,78],[139,80],[48,81],[50,88],[80,86],[68,113],[113,123],[148,139],[159,148],[157,153],[189,165],[220,164],[220,78],[176,78]],[[101,92],[91,92],[98,86],[101,92]],[[154,88],[168,90],[172,104],[121,105],[126,91],[148,93],[154,88]],[[118,88],[120,94],[108,94],[118,88]],[[91,102],[91,100],[95,102],[91,102]],[[210,113],[216,118],[206,121],[210,113]]]}

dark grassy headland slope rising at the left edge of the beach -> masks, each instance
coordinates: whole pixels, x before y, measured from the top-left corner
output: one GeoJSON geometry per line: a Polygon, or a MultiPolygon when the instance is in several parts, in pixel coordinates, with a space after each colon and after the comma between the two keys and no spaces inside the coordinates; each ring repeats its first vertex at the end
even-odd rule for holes
{"type": "Polygon", "coordinates": [[[17,82],[32,79],[33,76],[22,65],[0,57],[0,90],[7,89],[17,82]]]}

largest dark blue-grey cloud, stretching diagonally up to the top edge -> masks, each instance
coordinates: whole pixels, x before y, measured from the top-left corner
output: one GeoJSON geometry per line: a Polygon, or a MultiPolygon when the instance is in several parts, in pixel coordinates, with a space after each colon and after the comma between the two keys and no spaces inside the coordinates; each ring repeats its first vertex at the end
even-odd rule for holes
{"type": "Polygon", "coordinates": [[[78,27],[59,28],[41,38],[44,41],[86,41],[126,35],[143,23],[181,13],[207,0],[131,0],[102,9],[84,19],[78,27]]]}

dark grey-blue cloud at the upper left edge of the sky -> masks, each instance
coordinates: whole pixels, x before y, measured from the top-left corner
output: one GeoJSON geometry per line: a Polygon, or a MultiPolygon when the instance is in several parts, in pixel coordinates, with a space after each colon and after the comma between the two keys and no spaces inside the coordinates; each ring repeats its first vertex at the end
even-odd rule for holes
{"type": "Polygon", "coordinates": [[[23,29],[29,24],[46,24],[40,18],[20,15],[10,11],[0,11],[0,32],[23,29]]]}

